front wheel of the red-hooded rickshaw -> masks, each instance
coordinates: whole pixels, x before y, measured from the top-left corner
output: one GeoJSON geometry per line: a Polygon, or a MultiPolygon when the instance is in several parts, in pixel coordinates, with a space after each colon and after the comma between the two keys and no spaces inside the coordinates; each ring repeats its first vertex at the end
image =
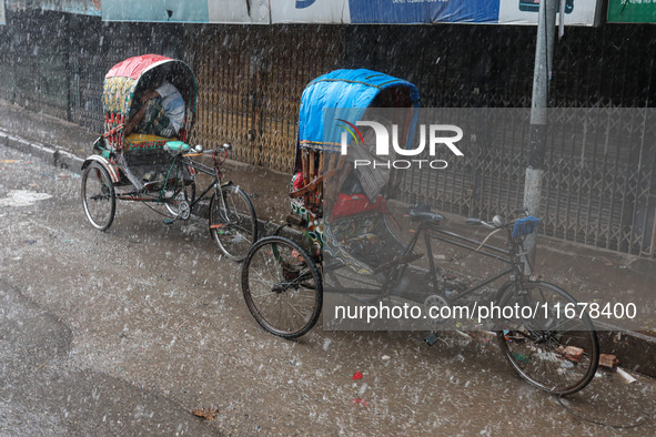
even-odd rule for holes
{"type": "Polygon", "coordinates": [[[210,233],[219,247],[236,262],[246,257],[249,250],[258,241],[258,217],[251,200],[242,189],[223,185],[210,201],[210,233]]]}

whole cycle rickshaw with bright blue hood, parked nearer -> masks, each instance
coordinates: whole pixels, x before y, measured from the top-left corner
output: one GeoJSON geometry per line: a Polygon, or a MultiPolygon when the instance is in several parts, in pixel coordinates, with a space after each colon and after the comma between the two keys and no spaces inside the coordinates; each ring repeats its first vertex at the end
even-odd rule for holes
{"type": "MultiPolygon", "coordinates": [[[[394,112],[394,122],[403,131],[401,138],[410,144],[418,99],[412,83],[370,70],[333,71],[305,88],[290,189],[292,214],[287,216],[287,225],[300,230],[301,236],[283,236],[281,227],[249,251],[242,265],[242,292],[251,314],[269,333],[295,338],[306,334],[319,319],[324,291],[362,303],[405,293],[405,274],[424,255],[417,248],[423,236],[428,263],[427,272],[421,274],[425,293],[413,294],[411,289],[406,294],[408,299],[425,307],[450,308],[506,277],[492,297],[493,304],[544,309],[533,317],[504,315],[494,321],[493,329],[511,366],[524,379],[549,393],[566,395],[582,389],[597,368],[597,336],[587,314],[563,314],[565,306],[576,304],[569,294],[525,273],[523,242],[537,226],[538,218],[516,210],[514,220],[495,216],[491,222],[467,221],[505,234],[503,248],[488,244],[487,238],[480,242],[446,231],[441,226],[444,216],[426,205],[413,205],[405,215],[416,230],[408,242],[402,243],[394,232],[395,221],[386,211],[386,197],[398,184],[394,172],[384,173],[383,192],[372,191],[380,175],[360,172],[353,177],[353,162],[342,153],[345,141],[350,141],[346,155],[355,157],[365,153],[372,141],[356,129],[357,121],[372,108],[401,109],[394,112]],[[434,240],[478,252],[508,266],[454,292],[447,275],[433,260],[434,240]]],[[[413,274],[417,275],[416,271],[413,274]]]]}

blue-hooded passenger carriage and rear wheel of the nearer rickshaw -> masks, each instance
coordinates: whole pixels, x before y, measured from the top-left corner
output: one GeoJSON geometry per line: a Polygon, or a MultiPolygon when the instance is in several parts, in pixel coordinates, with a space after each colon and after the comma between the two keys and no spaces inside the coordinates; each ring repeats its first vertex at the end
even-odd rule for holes
{"type": "Polygon", "coordinates": [[[371,274],[404,250],[386,228],[393,174],[354,172],[350,163],[371,153],[355,126],[370,109],[401,109],[401,138],[408,140],[418,101],[414,84],[364,69],[332,71],[307,84],[286,220],[302,237],[294,238],[299,243],[279,230],[254,244],[242,266],[246,305],[265,331],[295,338],[314,326],[323,302],[324,252],[340,267],[371,274]]]}

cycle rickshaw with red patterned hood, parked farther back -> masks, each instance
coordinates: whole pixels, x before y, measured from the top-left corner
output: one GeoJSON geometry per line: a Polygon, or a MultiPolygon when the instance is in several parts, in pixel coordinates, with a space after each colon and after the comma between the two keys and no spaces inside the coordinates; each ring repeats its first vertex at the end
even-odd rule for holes
{"type": "MultiPolygon", "coordinates": [[[[82,165],[82,203],[87,218],[100,231],[114,220],[117,200],[163,205],[155,210],[164,223],[188,220],[192,207],[211,192],[209,230],[226,256],[241,261],[258,240],[258,220],[243,190],[223,183],[221,164],[230,144],[203,151],[186,144],[194,124],[196,83],[182,61],[159,54],[129,58],[109,70],[104,78],[102,106],[104,133],[93,144],[93,154],[82,165]],[[123,128],[141,105],[140,96],[162,80],[173,84],[184,99],[184,123],[176,138],[131,133],[123,128]],[[213,165],[201,161],[211,155],[213,165]],[[211,177],[196,194],[196,174],[211,177]]],[[[153,209],[154,210],[154,209],[153,209]]]]}

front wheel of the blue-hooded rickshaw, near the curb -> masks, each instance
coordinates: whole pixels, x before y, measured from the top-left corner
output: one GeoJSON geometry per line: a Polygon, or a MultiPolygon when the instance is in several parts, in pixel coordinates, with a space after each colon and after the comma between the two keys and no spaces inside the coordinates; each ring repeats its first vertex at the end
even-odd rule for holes
{"type": "Polygon", "coordinates": [[[592,380],[599,343],[591,318],[579,314],[574,297],[544,282],[528,283],[521,289],[509,284],[497,297],[497,305],[506,308],[497,321],[502,329],[497,339],[519,376],[557,395],[578,392],[592,380]],[[576,314],[565,312],[565,305],[573,306],[576,314]]]}

